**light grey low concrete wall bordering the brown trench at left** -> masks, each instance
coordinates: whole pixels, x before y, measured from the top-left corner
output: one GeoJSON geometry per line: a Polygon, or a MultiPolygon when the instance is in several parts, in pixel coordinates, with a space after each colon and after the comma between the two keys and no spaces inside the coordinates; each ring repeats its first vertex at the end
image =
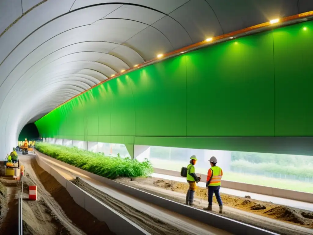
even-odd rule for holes
{"type": "Polygon", "coordinates": [[[114,211],[103,202],[83,191],[71,181],[65,179],[58,171],[50,167],[38,154],[36,154],[38,165],[51,174],[61,185],[63,185],[74,199],[74,201],[90,212],[94,217],[100,221],[104,221],[109,227],[111,232],[116,235],[124,234],[138,234],[138,235],[151,235],[134,222],[130,221],[120,213],[114,211]]]}

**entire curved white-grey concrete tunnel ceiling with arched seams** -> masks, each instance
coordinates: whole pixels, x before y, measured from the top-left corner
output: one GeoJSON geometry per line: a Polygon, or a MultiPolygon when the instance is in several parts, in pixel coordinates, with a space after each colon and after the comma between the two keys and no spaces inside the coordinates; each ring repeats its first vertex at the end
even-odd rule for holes
{"type": "Polygon", "coordinates": [[[112,74],[306,0],[0,1],[0,154],[23,126],[112,74]]]}

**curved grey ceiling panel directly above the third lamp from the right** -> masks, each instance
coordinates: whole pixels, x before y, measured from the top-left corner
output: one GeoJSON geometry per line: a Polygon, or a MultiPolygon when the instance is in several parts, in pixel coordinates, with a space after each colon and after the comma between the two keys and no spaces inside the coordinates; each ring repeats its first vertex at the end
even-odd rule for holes
{"type": "Polygon", "coordinates": [[[159,30],[151,26],[127,40],[123,45],[136,48],[145,60],[151,60],[160,53],[173,50],[169,39],[159,30]]]}

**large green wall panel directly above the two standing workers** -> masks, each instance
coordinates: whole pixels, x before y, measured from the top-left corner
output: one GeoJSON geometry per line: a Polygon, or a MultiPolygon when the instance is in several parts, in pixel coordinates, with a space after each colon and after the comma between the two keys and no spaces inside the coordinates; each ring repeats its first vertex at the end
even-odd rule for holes
{"type": "Polygon", "coordinates": [[[186,56],[188,136],[274,136],[272,32],[186,56]]]}

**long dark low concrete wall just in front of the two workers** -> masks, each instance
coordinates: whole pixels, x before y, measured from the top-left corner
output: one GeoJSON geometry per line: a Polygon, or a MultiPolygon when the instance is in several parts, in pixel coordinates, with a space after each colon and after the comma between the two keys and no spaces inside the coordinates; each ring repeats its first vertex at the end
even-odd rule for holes
{"type": "MultiPolygon", "coordinates": [[[[220,215],[216,215],[214,213],[206,212],[204,210],[199,210],[197,208],[186,206],[181,203],[177,203],[175,201],[171,201],[159,196],[155,196],[153,194],[138,190],[136,188],[123,185],[121,183],[118,183],[114,180],[107,179],[105,177],[95,175],[93,173],[90,173],[88,171],[82,170],[80,168],[74,167],[72,165],[69,165],[67,163],[61,162],[59,160],[56,160],[54,158],[51,158],[49,156],[46,156],[41,153],[37,153],[37,156],[41,156],[39,158],[46,158],[49,160],[52,160],[53,162],[58,163],[59,165],[63,165],[69,169],[72,169],[76,172],[79,172],[81,174],[84,174],[85,176],[88,176],[94,180],[100,181],[106,185],[109,185],[110,187],[122,191],[123,193],[126,193],[128,195],[134,196],[142,201],[149,202],[151,204],[154,204],[156,206],[160,206],[162,208],[166,208],[172,211],[176,212],[177,214],[186,216],[186,217],[192,217],[192,219],[195,219],[199,222],[202,222],[204,224],[208,224],[210,226],[222,229],[224,231],[230,232],[234,235],[278,235],[274,232],[269,232],[261,228],[257,228],[248,224],[244,224],[220,215]]],[[[132,234],[132,233],[130,233],[132,234]]],[[[136,233],[135,233],[136,234],[136,233]]]]}

